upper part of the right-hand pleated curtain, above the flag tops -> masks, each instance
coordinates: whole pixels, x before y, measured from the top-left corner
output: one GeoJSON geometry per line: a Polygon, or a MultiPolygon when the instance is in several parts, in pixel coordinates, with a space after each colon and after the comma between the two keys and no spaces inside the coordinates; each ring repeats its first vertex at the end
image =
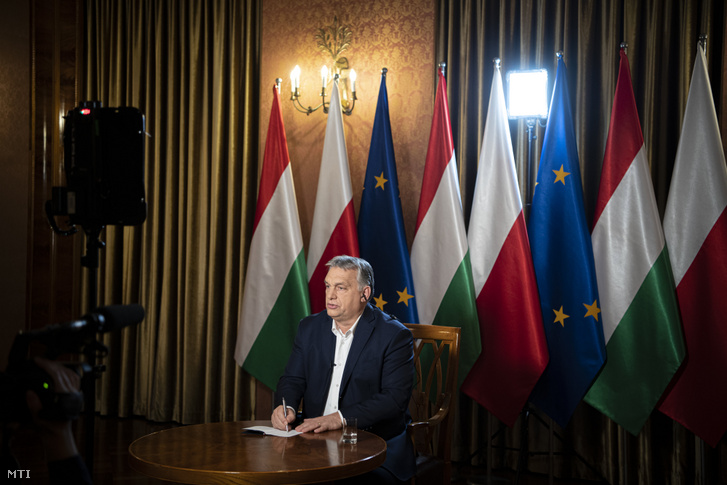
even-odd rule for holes
{"type": "MultiPolygon", "coordinates": [[[[452,131],[461,160],[466,215],[474,191],[479,148],[492,80],[492,60],[503,73],[546,68],[552,90],[557,51],[568,67],[588,217],[618,74],[618,49],[629,45],[634,91],[659,208],[663,211],[681,131],[699,35],[708,35],[707,60],[715,102],[722,102],[724,2],[712,0],[440,0],[437,61],[447,63],[452,131]]],[[[718,108],[719,110],[719,108],[718,108]]],[[[523,122],[513,122],[519,172],[527,155],[523,122]],[[514,128],[519,128],[515,130],[514,128]]],[[[539,159],[538,131],[536,162],[539,159]]],[[[524,179],[521,180],[521,186],[524,179]]],[[[524,192],[523,192],[524,195],[524,192]]]]}

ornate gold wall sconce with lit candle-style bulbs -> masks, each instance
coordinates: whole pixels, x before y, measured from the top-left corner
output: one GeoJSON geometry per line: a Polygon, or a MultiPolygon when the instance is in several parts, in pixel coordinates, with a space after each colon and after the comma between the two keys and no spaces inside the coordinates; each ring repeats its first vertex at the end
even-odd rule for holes
{"type": "Polygon", "coordinates": [[[326,101],[326,87],[333,82],[332,89],[341,90],[341,111],[349,116],[353,113],[357,99],[356,71],[350,69],[348,59],[341,56],[351,45],[351,36],[351,29],[348,26],[339,25],[337,17],[333,17],[332,25],[318,29],[315,35],[318,50],[331,56],[333,68],[329,70],[326,65],[321,68],[321,102],[315,108],[311,106],[306,108],[300,102],[301,70],[299,66],[295,66],[290,73],[290,101],[296,110],[309,115],[319,108],[323,108],[323,112],[328,113],[330,101],[326,101]]]}

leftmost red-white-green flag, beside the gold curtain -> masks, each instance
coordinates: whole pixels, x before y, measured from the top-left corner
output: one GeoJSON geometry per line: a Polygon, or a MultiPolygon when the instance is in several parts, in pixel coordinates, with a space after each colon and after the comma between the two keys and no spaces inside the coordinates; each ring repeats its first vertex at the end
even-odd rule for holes
{"type": "Polygon", "coordinates": [[[274,390],[298,322],[310,313],[298,205],[275,87],[244,291],[235,361],[274,390]]]}

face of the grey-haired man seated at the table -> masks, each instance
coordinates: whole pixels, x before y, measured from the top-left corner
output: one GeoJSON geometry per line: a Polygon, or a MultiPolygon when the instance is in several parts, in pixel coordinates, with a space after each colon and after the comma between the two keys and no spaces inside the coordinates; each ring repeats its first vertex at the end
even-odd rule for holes
{"type": "Polygon", "coordinates": [[[371,288],[358,289],[355,269],[330,268],[326,275],[326,310],[341,326],[353,325],[366,306],[371,288]]]}

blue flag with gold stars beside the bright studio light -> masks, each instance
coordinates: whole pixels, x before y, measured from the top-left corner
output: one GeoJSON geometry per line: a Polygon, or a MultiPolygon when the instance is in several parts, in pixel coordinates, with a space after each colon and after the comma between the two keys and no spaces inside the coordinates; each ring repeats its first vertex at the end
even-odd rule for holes
{"type": "Polygon", "coordinates": [[[603,366],[606,348],[562,57],[528,234],[550,352],[550,362],[530,401],[565,427],[603,366]]]}

